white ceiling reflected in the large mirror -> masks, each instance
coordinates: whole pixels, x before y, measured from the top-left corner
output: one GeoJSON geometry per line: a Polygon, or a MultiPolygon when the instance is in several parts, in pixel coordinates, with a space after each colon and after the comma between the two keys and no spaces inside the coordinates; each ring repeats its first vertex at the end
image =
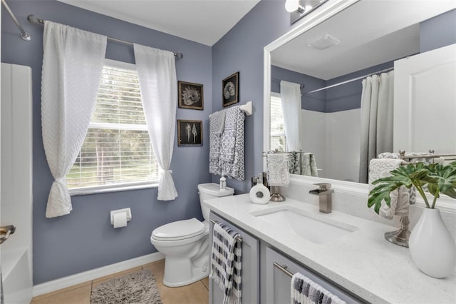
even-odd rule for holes
{"type": "Polygon", "coordinates": [[[420,51],[422,21],[456,8],[455,0],[361,0],[272,52],[274,66],[324,80],[420,51]],[[331,34],[340,44],[308,44],[331,34]]]}

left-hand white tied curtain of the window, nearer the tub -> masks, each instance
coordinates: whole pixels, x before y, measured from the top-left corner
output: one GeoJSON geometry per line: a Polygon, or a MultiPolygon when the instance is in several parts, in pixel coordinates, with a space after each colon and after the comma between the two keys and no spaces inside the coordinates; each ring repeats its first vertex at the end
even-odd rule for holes
{"type": "Polygon", "coordinates": [[[96,103],[106,51],[106,36],[50,21],[44,23],[41,74],[43,145],[55,181],[46,217],[72,210],[65,183],[76,161],[96,103]]]}

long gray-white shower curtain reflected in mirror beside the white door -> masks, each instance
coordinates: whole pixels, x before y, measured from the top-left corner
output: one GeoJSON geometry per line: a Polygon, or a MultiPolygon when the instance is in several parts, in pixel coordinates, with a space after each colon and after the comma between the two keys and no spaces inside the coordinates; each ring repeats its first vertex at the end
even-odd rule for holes
{"type": "Polygon", "coordinates": [[[368,182],[368,164],[372,158],[393,152],[393,96],[393,71],[363,79],[360,183],[368,182]]]}

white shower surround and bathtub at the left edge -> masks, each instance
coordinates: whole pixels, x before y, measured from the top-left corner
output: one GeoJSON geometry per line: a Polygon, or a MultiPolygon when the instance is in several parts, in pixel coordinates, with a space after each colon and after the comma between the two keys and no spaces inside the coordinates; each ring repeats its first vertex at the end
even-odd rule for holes
{"type": "Polygon", "coordinates": [[[32,297],[31,69],[1,64],[0,262],[4,303],[32,297]],[[16,230],[8,235],[14,225],[16,230]]]}

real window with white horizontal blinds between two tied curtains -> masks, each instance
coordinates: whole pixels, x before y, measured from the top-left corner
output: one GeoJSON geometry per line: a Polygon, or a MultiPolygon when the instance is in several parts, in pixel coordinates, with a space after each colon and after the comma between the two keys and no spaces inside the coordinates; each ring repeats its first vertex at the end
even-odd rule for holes
{"type": "Polygon", "coordinates": [[[86,140],[66,175],[72,194],[144,188],[158,181],[135,66],[106,62],[86,140]]]}

